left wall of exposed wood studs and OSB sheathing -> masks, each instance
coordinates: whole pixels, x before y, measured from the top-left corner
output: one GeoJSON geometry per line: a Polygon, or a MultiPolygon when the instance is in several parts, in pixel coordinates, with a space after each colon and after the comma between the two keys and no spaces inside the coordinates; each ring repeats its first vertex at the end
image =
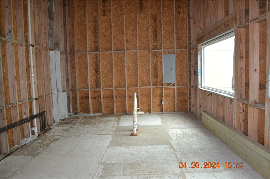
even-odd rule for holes
{"type": "MultiPolygon", "coordinates": [[[[28,21],[27,1],[1,1],[1,128],[32,116],[32,104],[36,103],[36,113],[46,111],[47,129],[56,119],[64,119],[68,114],[66,93],[65,60],[65,1],[30,1],[28,21]],[[55,11],[57,8],[57,11],[55,11]],[[28,24],[31,24],[32,41],[29,41],[28,24]],[[30,54],[32,48],[34,66],[34,89],[31,86],[30,54]],[[57,59],[55,66],[55,88],[51,83],[50,53],[57,59]],[[32,96],[31,90],[35,90],[32,96]],[[53,99],[56,97],[56,107],[53,99]],[[53,111],[58,109],[57,116],[53,111]]],[[[67,56],[67,55],[66,55],[67,56]]],[[[68,79],[67,79],[68,81],[68,79]]],[[[38,134],[40,119],[37,119],[38,134]]],[[[1,158],[32,138],[32,121],[1,133],[1,158]]]]}

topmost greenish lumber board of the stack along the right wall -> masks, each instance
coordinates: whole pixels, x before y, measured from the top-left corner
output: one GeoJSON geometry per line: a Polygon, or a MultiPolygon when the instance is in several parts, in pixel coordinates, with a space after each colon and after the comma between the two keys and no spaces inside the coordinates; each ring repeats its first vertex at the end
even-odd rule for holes
{"type": "Polygon", "coordinates": [[[263,157],[265,157],[267,160],[270,161],[270,149],[266,148],[265,146],[259,144],[256,141],[248,138],[244,134],[235,130],[233,127],[225,126],[224,123],[215,119],[213,116],[211,116],[211,114],[202,111],[202,115],[205,116],[210,121],[217,124],[218,126],[220,126],[222,129],[224,129],[228,133],[231,133],[238,141],[243,142],[247,147],[252,148],[255,152],[259,153],[260,155],[262,155],[263,157]]]}

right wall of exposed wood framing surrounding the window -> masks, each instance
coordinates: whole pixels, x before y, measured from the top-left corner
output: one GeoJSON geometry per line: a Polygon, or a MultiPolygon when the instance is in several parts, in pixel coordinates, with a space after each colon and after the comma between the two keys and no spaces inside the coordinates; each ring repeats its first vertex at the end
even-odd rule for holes
{"type": "Polygon", "coordinates": [[[191,111],[207,111],[269,148],[269,0],[191,1],[191,111]],[[198,88],[200,44],[235,29],[235,96],[198,88]]]}

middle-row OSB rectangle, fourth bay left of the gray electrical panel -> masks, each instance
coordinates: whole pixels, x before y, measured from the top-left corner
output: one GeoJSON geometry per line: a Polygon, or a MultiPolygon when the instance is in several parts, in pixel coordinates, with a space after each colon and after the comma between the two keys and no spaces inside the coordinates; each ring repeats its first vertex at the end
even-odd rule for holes
{"type": "Polygon", "coordinates": [[[116,88],[126,87],[125,53],[114,53],[114,84],[116,88]]]}

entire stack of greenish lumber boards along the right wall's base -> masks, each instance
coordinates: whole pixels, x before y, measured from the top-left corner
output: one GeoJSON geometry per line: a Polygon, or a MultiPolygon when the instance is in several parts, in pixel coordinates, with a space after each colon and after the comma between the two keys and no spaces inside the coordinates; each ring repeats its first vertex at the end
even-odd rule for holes
{"type": "Polygon", "coordinates": [[[259,174],[265,178],[270,176],[270,149],[213,118],[207,112],[202,112],[202,123],[259,174]]]}

